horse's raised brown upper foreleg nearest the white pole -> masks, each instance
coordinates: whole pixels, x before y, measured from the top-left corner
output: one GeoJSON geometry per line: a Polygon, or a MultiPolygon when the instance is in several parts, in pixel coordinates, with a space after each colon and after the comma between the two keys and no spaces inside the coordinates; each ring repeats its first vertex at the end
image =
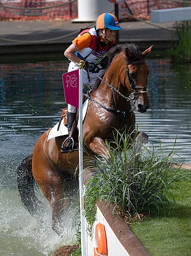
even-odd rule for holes
{"type": "Polygon", "coordinates": [[[109,158],[109,150],[106,147],[106,143],[103,138],[95,137],[90,143],[90,149],[98,153],[99,155],[103,155],[106,158],[109,158]]]}

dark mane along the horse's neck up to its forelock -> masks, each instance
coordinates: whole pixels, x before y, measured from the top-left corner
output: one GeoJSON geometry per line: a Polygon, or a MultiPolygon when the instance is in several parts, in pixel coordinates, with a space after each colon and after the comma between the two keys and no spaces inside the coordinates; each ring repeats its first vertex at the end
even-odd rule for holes
{"type": "MultiPolygon", "coordinates": [[[[116,46],[113,46],[110,48],[110,50],[107,52],[107,56],[109,57],[109,62],[107,65],[107,68],[109,68],[110,64],[112,63],[113,59],[115,58],[116,55],[119,55],[121,52],[125,52],[125,49],[128,48],[128,50],[132,53],[131,58],[125,58],[126,61],[131,61],[131,59],[134,58],[143,58],[142,53],[138,49],[138,46],[136,44],[117,44],[116,46]]],[[[107,69],[104,71],[106,73],[107,69]]],[[[104,76],[104,73],[101,74],[101,77],[104,76]]],[[[96,89],[101,83],[100,79],[96,80],[94,89],[96,89]]]]}

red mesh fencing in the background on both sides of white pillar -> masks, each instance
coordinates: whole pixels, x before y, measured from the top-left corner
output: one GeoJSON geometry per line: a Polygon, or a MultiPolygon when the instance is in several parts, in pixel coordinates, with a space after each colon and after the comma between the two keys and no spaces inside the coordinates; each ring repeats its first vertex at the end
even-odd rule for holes
{"type": "MultiPolygon", "coordinates": [[[[151,10],[189,5],[189,0],[125,0],[119,4],[119,17],[121,19],[127,18],[128,12],[141,19],[150,19],[151,10]]],[[[78,0],[0,0],[0,20],[66,20],[76,18],[78,18],[78,0]]]]}

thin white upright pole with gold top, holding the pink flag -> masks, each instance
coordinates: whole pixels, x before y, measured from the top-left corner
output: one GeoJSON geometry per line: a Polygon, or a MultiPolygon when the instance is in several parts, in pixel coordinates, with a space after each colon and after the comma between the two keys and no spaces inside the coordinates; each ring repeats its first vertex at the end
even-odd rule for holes
{"type": "Polygon", "coordinates": [[[83,66],[84,61],[79,62],[79,204],[81,216],[81,252],[86,254],[86,230],[84,213],[84,175],[83,175],[83,132],[82,132],[82,92],[83,92],[83,66]]]}

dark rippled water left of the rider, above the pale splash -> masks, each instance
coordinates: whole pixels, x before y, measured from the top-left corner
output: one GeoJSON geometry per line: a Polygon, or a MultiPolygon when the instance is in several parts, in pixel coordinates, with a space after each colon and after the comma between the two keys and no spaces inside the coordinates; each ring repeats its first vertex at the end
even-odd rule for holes
{"type": "MultiPolygon", "coordinates": [[[[2,181],[14,172],[21,159],[33,152],[38,137],[58,122],[64,106],[61,75],[66,72],[67,62],[0,66],[2,181]]],[[[10,177],[7,181],[1,185],[13,187],[15,184],[10,177]]]]}

